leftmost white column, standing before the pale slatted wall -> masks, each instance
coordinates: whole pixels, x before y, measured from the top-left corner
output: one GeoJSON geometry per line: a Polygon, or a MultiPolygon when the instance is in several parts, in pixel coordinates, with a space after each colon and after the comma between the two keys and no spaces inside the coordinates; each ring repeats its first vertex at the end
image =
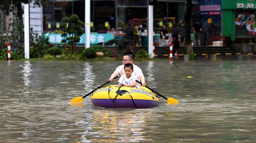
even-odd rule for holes
{"type": "Polygon", "coordinates": [[[29,4],[24,4],[24,52],[29,59],[29,4]]]}

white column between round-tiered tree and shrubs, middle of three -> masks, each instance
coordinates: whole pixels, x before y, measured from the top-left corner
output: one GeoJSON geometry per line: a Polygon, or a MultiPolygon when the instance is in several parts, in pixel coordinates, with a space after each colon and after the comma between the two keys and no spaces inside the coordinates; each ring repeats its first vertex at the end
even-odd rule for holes
{"type": "Polygon", "coordinates": [[[91,22],[91,10],[90,0],[85,0],[85,48],[90,48],[90,22],[91,22]]]}

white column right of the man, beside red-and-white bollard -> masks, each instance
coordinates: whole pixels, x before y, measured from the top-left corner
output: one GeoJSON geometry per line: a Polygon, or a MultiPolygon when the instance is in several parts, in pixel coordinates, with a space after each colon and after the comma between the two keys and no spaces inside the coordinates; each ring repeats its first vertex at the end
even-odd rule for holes
{"type": "Polygon", "coordinates": [[[148,54],[153,58],[153,6],[148,5],[148,54]]]}

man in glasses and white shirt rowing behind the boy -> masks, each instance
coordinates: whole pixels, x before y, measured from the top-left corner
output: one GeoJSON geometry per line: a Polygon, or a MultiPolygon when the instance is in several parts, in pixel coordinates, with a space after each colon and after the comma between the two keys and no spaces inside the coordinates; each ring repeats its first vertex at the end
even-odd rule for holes
{"type": "MultiPolygon", "coordinates": [[[[133,70],[134,70],[134,71],[133,71],[133,74],[134,74],[135,76],[137,76],[137,80],[140,80],[140,81],[141,81],[142,86],[146,86],[145,77],[144,77],[144,75],[143,75],[143,73],[142,73],[142,71],[141,71],[141,68],[139,68],[137,65],[134,65],[133,62],[134,62],[134,54],[133,54],[132,52],[126,52],[126,53],[124,53],[124,57],[123,57],[123,59],[122,59],[123,65],[119,65],[119,66],[115,69],[115,71],[113,72],[113,74],[112,74],[111,77],[109,78],[109,81],[114,81],[114,77],[117,76],[117,75],[119,75],[119,74],[121,74],[121,76],[122,76],[123,74],[125,74],[125,73],[124,73],[124,65],[125,65],[126,63],[131,63],[131,64],[133,65],[133,70]]],[[[137,84],[137,85],[139,86],[139,84],[137,84]]]]}

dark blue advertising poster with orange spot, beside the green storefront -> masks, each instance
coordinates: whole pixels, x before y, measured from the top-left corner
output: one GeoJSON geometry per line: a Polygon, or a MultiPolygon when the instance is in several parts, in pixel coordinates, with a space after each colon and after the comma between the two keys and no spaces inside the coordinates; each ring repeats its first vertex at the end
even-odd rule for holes
{"type": "Polygon", "coordinates": [[[200,21],[208,36],[221,34],[221,0],[198,0],[200,21]]]}

